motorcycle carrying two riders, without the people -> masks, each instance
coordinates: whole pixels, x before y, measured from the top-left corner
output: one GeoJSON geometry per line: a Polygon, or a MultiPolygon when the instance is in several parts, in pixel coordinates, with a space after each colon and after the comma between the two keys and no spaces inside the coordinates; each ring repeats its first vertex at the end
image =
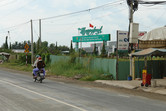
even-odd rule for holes
{"type": "Polygon", "coordinates": [[[43,70],[41,69],[41,70],[37,71],[36,74],[37,74],[37,77],[35,77],[35,75],[33,74],[34,82],[38,81],[38,82],[42,83],[42,81],[45,79],[43,70]]]}

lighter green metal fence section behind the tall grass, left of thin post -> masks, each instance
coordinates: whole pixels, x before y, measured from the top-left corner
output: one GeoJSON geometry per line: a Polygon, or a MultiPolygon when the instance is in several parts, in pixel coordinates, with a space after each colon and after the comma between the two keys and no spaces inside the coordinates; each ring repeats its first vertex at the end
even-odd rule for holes
{"type": "MultiPolygon", "coordinates": [[[[59,61],[68,62],[70,56],[55,56],[50,55],[51,64],[59,61]]],[[[102,58],[76,58],[77,63],[81,63],[88,68],[88,70],[97,70],[105,74],[112,74],[116,79],[116,59],[102,59],[102,58]]]]}

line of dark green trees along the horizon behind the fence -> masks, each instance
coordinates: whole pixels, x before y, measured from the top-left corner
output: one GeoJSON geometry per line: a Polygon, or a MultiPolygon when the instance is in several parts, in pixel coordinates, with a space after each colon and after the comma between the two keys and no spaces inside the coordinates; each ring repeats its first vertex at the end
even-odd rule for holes
{"type": "MultiPolygon", "coordinates": [[[[28,44],[29,51],[31,51],[31,42],[30,42],[30,40],[22,41],[22,42],[15,41],[15,43],[13,43],[13,44],[9,43],[9,46],[8,46],[8,37],[6,36],[5,43],[1,46],[1,50],[2,49],[3,50],[24,49],[25,44],[28,44]]],[[[70,48],[69,48],[69,47],[64,46],[64,45],[63,46],[58,46],[57,42],[56,43],[51,43],[49,45],[47,41],[43,41],[43,42],[41,42],[41,45],[40,45],[39,40],[37,40],[37,42],[33,43],[33,51],[34,51],[34,54],[41,54],[41,55],[42,54],[60,55],[60,54],[62,54],[63,51],[67,51],[68,54],[75,53],[72,41],[70,43],[70,48]]],[[[8,51],[8,52],[10,52],[10,51],[8,51]]],[[[79,56],[89,55],[83,49],[79,49],[78,53],[79,53],[79,56]]],[[[94,45],[94,50],[93,50],[92,55],[101,56],[101,57],[106,57],[107,56],[104,41],[103,41],[103,47],[102,47],[101,55],[98,55],[96,44],[94,45]]]]}

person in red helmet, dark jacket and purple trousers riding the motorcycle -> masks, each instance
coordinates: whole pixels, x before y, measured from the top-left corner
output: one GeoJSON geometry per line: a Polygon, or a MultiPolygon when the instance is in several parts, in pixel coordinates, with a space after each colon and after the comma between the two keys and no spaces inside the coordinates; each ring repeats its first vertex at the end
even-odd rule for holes
{"type": "Polygon", "coordinates": [[[41,57],[38,57],[38,62],[37,62],[37,67],[33,69],[33,74],[34,74],[34,78],[37,77],[37,74],[36,72],[39,71],[39,70],[43,70],[43,76],[45,77],[45,63],[42,61],[42,58],[41,57]]]}

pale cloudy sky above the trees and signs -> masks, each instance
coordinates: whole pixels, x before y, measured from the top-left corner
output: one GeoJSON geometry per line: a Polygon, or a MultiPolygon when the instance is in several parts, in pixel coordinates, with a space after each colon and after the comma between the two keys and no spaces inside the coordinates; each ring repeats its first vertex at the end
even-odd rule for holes
{"type": "MultiPolygon", "coordinates": [[[[39,19],[42,20],[41,39],[49,44],[57,42],[58,46],[70,47],[72,37],[80,35],[78,28],[90,29],[89,23],[96,28],[103,26],[102,33],[111,34],[111,41],[116,41],[117,30],[128,31],[129,7],[126,0],[0,0],[0,46],[6,36],[12,44],[31,41],[30,20],[33,20],[33,41],[36,42],[39,19]],[[78,13],[70,14],[73,12],[78,13]]],[[[133,19],[139,23],[139,31],[163,27],[166,4],[139,4],[133,19]]]]}

